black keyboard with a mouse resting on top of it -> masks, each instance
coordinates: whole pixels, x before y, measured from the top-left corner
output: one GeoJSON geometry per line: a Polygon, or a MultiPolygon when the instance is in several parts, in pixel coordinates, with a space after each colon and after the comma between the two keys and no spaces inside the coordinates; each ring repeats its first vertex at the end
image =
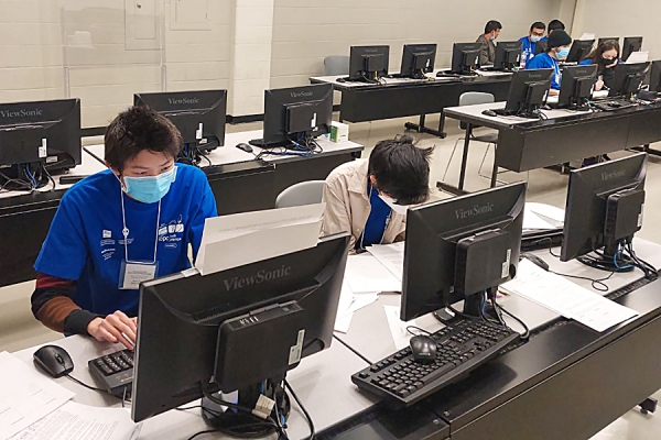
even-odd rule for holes
{"type": "Polygon", "coordinates": [[[354,374],[351,382],[390,400],[409,406],[462,378],[519,340],[519,333],[483,320],[464,320],[432,334],[436,360],[413,361],[411,348],[400,350],[354,374]]]}

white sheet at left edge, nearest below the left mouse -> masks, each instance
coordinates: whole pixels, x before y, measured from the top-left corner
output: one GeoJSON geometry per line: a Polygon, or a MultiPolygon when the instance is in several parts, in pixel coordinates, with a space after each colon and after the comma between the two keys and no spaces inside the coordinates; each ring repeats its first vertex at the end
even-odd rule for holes
{"type": "Polygon", "coordinates": [[[8,352],[0,353],[0,440],[45,417],[74,397],[8,352]]]}

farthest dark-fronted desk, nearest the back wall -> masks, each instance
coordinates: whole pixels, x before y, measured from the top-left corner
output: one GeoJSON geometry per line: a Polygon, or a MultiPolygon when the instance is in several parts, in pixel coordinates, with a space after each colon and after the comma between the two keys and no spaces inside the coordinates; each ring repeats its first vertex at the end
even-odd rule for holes
{"type": "Polygon", "coordinates": [[[480,76],[438,78],[434,70],[427,79],[384,78],[384,84],[339,82],[338,76],[312,77],[312,84],[332,84],[342,92],[339,120],[368,122],[381,119],[420,116],[420,124],[407,123],[418,130],[445,138],[443,132],[446,107],[457,106],[466,91],[485,91],[496,100],[507,99],[511,74],[489,72],[480,76]],[[424,125],[425,114],[441,113],[438,130],[424,125]]]}

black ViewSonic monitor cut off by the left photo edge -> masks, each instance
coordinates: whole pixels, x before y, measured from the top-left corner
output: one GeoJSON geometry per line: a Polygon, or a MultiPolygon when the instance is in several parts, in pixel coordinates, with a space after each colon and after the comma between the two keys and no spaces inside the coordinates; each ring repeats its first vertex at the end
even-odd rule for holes
{"type": "Polygon", "coordinates": [[[82,152],[79,99],[0,105],[0,167],[10,179],[42,186],[47,174],[79,165],[82,152]]]}

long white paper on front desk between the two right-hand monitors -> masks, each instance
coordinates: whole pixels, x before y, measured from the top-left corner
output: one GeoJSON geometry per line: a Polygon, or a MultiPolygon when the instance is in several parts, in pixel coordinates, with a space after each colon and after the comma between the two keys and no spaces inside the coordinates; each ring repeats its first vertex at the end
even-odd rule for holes
{"type": "Polygon", "coordinates": [[[636,310],[546,272],[525,258],[519,262],[517,277],[501,285],[501,288],[598,332],[638,316],[636,310]]]}

